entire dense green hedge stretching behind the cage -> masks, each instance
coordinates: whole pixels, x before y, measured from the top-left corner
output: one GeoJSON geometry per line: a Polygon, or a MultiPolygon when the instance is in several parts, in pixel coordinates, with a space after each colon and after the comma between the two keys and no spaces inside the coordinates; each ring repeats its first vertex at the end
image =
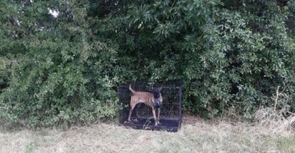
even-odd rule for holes
{"type": "Polygon", "coordinates": [[[293,1],[3,0],[0,12],[1,119],[114,119],[117,86],[134,80],[181,80],[183,110],[207,117],[294,111],[293,1]]]}

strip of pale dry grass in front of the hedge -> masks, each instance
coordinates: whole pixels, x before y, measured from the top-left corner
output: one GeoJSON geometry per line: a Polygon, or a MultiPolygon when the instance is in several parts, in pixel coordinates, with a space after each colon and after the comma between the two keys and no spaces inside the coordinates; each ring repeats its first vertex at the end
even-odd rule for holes
{"type": "MultiPolygon", "coordinates": [[[[180,132],[127,129],[97,124],[68,131],[42,129],[0,132],[2,153],[83,152],[286,152],[295,153],[295,134],[260,122],[256,125],[208,123],[186,117],[180,132]],[[274,132],[277,130],[277,132],[274,132]]],[[[271,123],[269,123],[271,124],[271,123]]]]}

